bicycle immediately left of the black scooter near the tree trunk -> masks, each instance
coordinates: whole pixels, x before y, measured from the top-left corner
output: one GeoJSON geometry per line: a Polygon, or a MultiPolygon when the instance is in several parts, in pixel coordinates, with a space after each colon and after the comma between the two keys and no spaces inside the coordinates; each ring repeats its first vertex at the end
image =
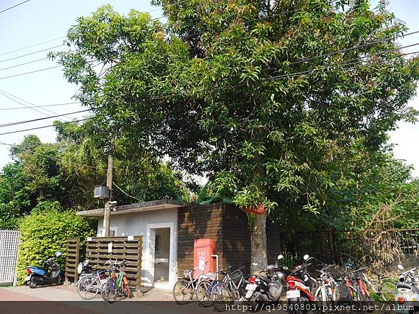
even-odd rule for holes
{"type": "Polygon", "coordinates": [[[235,301],[242,299],[244,294],[244,283],[246,279],[242,269],[244,266],[236,269],[231,274],[223,271],[221,274],[225,276],[225,280],[217,283],[211,290],[211,301],[216,311],[226,311],[226,305],[234,304],[235,301]],[[233,276],[237,274],[236,276],[233,276]],[[238,283],[236,284],[235,281],[238,283]]]}

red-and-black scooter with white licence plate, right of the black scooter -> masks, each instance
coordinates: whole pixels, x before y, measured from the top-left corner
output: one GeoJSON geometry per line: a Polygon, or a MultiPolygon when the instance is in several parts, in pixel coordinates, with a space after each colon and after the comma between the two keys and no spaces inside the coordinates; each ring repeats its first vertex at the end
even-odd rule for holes
{"type": "Polygon", "coordinates": [[[316,299],[314,292],[316,291],[317,281],[312,278],[307,271],[307,267],[311,265],[309,260],[313,257],[304,255],[303,264],[297,265],[286,278],[286,298],[290,304],[291,313],[307,313],[310,309],[310,303],[316,299]]]}

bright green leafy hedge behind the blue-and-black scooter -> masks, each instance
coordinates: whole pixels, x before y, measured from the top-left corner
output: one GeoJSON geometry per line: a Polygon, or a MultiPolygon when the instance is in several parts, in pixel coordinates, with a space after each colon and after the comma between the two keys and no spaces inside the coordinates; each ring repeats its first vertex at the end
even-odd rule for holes
{"type": "Polygon", "coordinates": [[[67,238],[80,237],[85,244],[87,237],[95,234],[92,221],[76,216],[74,211],[35,210],[20,221],[20,244],[17,262],[17,281],[23,283],[27,266],[42,266],[43,261],[56,251],[63,255],[57,260],[64,271],[67,238]]]}

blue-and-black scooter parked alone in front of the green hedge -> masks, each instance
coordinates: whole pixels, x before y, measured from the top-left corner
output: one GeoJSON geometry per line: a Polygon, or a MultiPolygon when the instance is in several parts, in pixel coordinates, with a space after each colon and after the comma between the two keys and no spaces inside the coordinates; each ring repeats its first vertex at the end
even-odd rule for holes
{"type": "Polygon", "coordinates": [[[31,288],[35,288],[38,285],[48,285],[51,283],[57,283],[58,285],[61,285],[62,271],[54,262],[61,255],[61,252],[55,252],[54,257],[50,257],[44,262],[44,265],[47,265],[47,267],[28,266],[28,276],[24,278],[24,283],[29,285],[31,288]]]}

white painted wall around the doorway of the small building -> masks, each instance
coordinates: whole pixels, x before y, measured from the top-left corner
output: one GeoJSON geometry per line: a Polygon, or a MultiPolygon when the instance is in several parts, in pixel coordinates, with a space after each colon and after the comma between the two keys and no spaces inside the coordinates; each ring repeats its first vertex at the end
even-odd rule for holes
{"type": "MultiPolygon", "coordinates": [[[[110,229],[115,230],[115,236],[142,235],[141,281],[145,285],[154,283],[155,230],[160,227],[170,227],[168,287],[172,287],[177,279],[177,209],[158,209],[110,216],[110,229]]],[[[98,237],[102,236],[102,230],[103,217],[98,218],[98,237]]]]}

